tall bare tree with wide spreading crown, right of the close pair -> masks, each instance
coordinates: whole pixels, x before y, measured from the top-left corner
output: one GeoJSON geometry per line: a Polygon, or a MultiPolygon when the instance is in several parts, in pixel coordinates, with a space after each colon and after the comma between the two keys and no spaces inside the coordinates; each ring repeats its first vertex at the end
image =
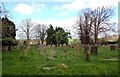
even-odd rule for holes
{"type": "Polygon", "coordinates": [[[98,7],[91,11],[91,15],[94,18],[91,31],[94,34],[95,44],[97,44],[98,34],[107,34],[108,31],[115,32],[115,29],[113,28],[115,23],[109,22],[109,19],[114,15],[114,9],[112,7],[98,7]]]}

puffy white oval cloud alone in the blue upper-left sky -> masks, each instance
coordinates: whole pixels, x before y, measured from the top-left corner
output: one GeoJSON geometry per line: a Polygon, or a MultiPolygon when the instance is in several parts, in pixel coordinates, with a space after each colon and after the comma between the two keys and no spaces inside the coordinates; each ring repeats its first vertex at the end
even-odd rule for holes
{"type": "Polygon", "coordinates": [[[14,10],[16,12],[19,12],[19,13],[22,13],[22,14],[33,14],[34,13],[34,9],[27,5],[27,4],[24,4],[24,3],[20,3],[18,4],[14,10]]]}

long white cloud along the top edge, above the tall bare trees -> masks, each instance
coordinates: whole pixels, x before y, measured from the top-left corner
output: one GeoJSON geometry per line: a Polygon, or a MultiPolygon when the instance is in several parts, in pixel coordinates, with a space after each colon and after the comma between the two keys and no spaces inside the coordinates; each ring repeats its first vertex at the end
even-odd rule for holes
{"type": "Polygon", "coordinates": [[[74,0],[63,6],[56,6],[56,9],[80,10],[83,8],[97,8],[102,6],[118,6],[119,0],[74,0]]]}

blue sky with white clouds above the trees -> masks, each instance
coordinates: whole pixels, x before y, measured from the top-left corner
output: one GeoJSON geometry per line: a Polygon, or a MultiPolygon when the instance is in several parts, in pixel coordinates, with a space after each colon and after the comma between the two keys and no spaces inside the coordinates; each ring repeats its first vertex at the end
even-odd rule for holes
{"type": "MultiPolygon", "coordinates": [[[[25,19],[32,19],[33,22],[52,24],[53,27],[62,27],[71,32],[76,38],[73,26],[76,23],[78,12],[84,8],[94,9],[98,6],[114,7],[115,15],[111,22],[118,22],[118,1],[119,0],[1,0],[5,8],[10,11],[12,20],[19,28],[20,23],[25,19]]],[[[16,38],[18,39],[18,33],[16,38]]]]}

